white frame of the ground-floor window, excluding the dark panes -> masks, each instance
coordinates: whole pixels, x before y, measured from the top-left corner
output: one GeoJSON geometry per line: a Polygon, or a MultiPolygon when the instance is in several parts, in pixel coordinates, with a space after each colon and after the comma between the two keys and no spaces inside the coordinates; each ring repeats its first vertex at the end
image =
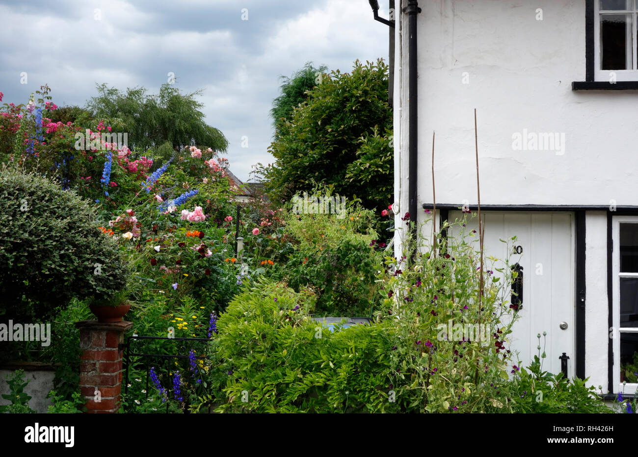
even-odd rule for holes
{"type": "MultiPolygon", "coordinates": [[[[620,278],[638,278],[638,273],[623,273],[620,271],[620,224],[635,223],[638,224],[638,216],[614,216],[612,218],[612,241],[614,250],[612,252],[612,281],[613,281],[613,300],[612,300],[612,323],[613,335],[612,344],[614,348],[614,360],[612,363],[612,379],[613,393],[623,392],[625,395],[635,395],[638,383],[627,383],[623,388],[620,382],[620,337],[624,333],[638,333],[638,327],[620,327],[620,278]]],[[[612,330],[610,330],[611,332],[612,330]]]]}

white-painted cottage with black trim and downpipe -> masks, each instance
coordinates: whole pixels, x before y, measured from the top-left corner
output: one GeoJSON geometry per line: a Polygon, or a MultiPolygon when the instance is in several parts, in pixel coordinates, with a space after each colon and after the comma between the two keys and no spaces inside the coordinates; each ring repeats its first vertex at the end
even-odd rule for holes
{"type": "Polygon", "coordinates": [[[638,0],[396,0],[390,20],[397,226],[433,207],[433,131],[436,223],[477,209],[476,108],[486,254],[522,253],[514,347],[528,363],[546,331],[545,368],[565,353],[617,393],[638,352],[638,0]]]}

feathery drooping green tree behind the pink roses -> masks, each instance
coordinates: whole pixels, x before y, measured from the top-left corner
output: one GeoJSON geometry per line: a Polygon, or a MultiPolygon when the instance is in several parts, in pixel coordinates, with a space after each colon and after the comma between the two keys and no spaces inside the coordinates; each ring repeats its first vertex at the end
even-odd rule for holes
{"type": "Polygon", "coordinates": [[[209,146],[215,151],[225,151],[228,141],[216,128],[207,125],[204,106],[195,97],[202,91],[181,94],[168,83],[159,88],[159,94],[147,94],[144,87],[127,88],[121,92],[97,86],[98,95],[87,102],[95,117],[119,118],[128,130],[129,146],[149,148],[168,141],[178,149],[189,144],[209,146]]]}

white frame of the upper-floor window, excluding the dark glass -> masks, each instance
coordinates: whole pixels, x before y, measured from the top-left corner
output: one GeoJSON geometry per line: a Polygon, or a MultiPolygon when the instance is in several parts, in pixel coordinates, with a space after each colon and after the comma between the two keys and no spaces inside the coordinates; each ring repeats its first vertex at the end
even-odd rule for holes
{"type": "Polygon", "coordinates": [[[594,0],[594,80],[609,82],[611,73],[616,74],[616,81],[638,81],[638,0],[625,0],[630,6],[627,10],[603,10],[600,12],[600,1],[594,0]],[[602,70],[600,69],[600,17],[601,15],[632,15],[632,27],[627,27],[627,57],[631,59],[630,70],[602,70]],[[629,49],[631,48],[631,49],[629,49]]]}

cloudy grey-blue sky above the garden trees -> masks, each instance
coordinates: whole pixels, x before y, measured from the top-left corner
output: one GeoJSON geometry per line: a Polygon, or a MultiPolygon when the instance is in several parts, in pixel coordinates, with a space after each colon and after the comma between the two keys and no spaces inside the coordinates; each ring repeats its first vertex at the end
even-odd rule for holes
{"type": "Polygon", "coordinates": [[[273,161],[279,76],[309,61],[342,72],[387,61],[387,39],[366,0],[0,0],[0,92],[26,103],[47,83],[58,106],[84,106],[96,83],[158,92],[173,72],[182,92],[203,90],[207,122],[246,181],[251,165],[273,161]]]}

